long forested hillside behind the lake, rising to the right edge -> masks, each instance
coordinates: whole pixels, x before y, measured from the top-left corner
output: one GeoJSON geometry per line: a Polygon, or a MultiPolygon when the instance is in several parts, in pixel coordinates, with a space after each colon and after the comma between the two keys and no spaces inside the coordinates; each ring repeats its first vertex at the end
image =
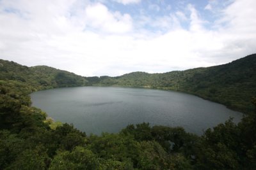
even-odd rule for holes
{"type": "Polygon", "coordinates": [[[228,64],[168,73],[134,72],[118,77],[86,78],[88,85],[176,90],[225,104],[244,113],[253,110],[256,96],[256,54],[228,64]]]}

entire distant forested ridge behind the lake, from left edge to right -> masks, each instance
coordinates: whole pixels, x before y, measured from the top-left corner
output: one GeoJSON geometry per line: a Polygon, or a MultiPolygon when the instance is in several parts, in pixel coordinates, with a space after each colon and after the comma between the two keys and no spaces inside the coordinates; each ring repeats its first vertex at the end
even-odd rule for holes
{"type": "Polygon", "coordinates": [[[83,77],[48,66],[26,67],[0,60],[0,73],[0,80],[21,81],[35,90],[89,85],[175,90],[245,113],[253,110],[251,101],[256,96],[256,54],[220,66],[168,73],[133,72],[116,77],[83,77]]]}

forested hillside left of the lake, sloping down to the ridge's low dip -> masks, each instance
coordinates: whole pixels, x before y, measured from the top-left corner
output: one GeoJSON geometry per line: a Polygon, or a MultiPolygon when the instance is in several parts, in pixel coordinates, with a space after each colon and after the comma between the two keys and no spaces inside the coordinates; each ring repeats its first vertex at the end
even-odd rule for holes
{"type": "Polygon", "coordinates": [[[15,80],[33,86],[35,89],[83,86],[84,78],[68,71],[48,66],[27,67],[0,60],[0,80],[15,80]]]}

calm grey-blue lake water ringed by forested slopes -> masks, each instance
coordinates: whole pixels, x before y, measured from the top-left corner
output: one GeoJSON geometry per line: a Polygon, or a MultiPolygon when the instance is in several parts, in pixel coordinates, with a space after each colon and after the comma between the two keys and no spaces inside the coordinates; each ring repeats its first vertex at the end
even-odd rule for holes
{"type": "Polygon", "coordinates": [[[120,87],[72,87],[31,94],[33,106],[55,121],[74,124],[86,134],[119,132],[129,124],[182,126],[202,134],[209,127],[242,114],[180,92],[120,87]]]}

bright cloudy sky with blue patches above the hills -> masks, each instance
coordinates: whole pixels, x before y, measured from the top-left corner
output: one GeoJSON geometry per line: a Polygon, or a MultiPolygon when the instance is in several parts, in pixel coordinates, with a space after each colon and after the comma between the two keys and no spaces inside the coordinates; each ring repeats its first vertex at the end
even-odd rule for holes
{"type": "Polygon", "coordinates": [[[256,52],[255,0],[0,0],[0,59],[83,76],[163,73],[256,52]]]}

